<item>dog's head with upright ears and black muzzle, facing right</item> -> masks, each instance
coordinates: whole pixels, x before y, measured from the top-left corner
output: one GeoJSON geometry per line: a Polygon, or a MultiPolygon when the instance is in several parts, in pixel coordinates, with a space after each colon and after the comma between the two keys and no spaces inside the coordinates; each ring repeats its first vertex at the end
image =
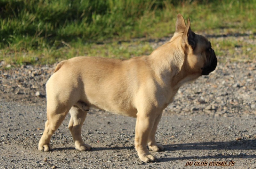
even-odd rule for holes
{"type": "Polygon", "coordinates": [[[184,51],[181,69],[191,74],[208,75],[216,68],[217,57],[210,41],[191,31],[189,18],[186,25],[182,15],[178,14],[171,41],[177,41],[176,44],[180,44],[184,51]]]}

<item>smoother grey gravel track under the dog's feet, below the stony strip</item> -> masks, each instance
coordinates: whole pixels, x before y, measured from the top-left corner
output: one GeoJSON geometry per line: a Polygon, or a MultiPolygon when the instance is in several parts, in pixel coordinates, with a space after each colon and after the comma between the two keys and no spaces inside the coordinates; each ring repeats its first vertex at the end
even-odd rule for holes
{"type": "Polygon", "coordinates": [[[156,135],[165,150],[153,152],[158,161],[146,164],[134,150],[132,117],[90,111],[83,138],[93,149],[86,152],[75,150],[66,118],[52,137],[53,151],[41,152],[37,143],[46,120],[45,106],[4,100],[1,105],[0,168],[184,168],[188,161],[235,161],[235,168],[256,167],[255,115],[165,112],[156,135]]]}

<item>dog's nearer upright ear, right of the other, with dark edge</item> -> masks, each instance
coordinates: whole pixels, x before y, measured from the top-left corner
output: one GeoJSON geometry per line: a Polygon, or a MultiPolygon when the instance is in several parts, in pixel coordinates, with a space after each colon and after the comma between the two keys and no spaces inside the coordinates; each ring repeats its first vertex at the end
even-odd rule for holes
{"type": "Polygon", "coordinates": [[[185,28],[185,31],[182,35],[182,38],[193,48],[195,49],[196,48],[196,34],[195,32],[191,31],[191,28],[190,28],[190,20],[188,18],[188,23],[187,23],[187,26],[185,28]]]}

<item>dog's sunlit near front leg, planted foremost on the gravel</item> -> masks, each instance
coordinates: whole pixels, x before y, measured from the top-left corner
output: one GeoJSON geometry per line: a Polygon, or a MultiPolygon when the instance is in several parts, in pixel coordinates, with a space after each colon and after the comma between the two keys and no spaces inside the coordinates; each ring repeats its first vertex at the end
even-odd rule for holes
{"type": "Polygon", "coordinates": [[[140,160],[146,163],[156,160],[156,158],[152,156],[147,149],[148,137],[154,123],[155,117],[152,116],[152,114],[145,115],[140,112],[137,113],[134,145],[140,160]]]}

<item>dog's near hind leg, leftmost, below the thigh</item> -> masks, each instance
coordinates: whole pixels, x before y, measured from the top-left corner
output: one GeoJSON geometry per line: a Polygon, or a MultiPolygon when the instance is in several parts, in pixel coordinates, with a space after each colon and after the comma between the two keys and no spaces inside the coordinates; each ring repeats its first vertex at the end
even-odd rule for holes
{"type": "Polygon", "coordinates": [[[47,121],[45,122],[44,133],[38,143],[38,150],[49,151],[51,149],[51,137],[53,133],[60,127],[60,124],[65,119],[69,109],[70,107],[67,108],[65,106],[50,107],[47,104],[47,121]]]}

